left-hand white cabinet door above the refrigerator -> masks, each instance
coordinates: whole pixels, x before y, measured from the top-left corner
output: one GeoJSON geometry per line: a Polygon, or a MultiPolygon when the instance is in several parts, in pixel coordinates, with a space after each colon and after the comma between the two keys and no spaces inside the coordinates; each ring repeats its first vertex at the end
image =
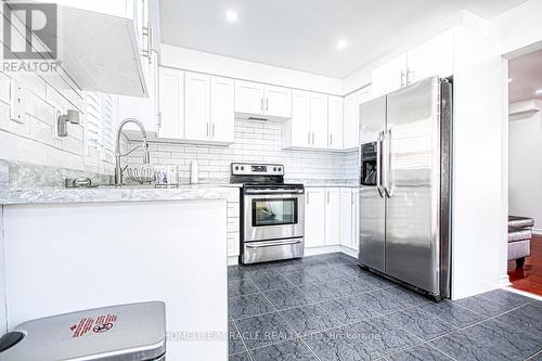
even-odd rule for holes
{"type": "Polygon", "coordinates": [[[374,96],[385,95],[406,85],[406,54],[377,67],[371,74],[374,96]]]}

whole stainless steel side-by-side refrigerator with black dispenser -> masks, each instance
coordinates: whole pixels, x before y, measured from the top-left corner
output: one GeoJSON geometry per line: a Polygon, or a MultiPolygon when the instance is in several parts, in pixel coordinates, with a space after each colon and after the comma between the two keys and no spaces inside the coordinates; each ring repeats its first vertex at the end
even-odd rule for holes
{"type": "Polygon", "coordinates": [[[361,104],[360,125],[360,265],[450,297],[451,81],[361,104]]]}

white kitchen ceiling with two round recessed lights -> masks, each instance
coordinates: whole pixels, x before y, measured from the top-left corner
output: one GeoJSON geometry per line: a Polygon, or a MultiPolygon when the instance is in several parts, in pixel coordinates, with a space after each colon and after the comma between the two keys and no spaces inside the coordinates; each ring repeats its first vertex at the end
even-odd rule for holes
{"type": "Polygon", "coordinates": [[[162,41],[344,78],[459,10],[490,18],[526,0],[160,0],[162,41]],[[225,11],[238,22],[229,24],[225,11]],[[348,40],[344,51],[337,41],[348,40]]]}

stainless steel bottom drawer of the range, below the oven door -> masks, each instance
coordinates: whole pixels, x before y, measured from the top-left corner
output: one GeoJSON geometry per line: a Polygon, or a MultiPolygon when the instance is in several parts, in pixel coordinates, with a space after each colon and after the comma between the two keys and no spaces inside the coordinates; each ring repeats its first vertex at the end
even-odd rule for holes
{"type": "Polygon", "coordinates": [[[305,238],[259,241],[243,244],[243,263],[258,263],[299,258],[305,254],[305,238]]]}

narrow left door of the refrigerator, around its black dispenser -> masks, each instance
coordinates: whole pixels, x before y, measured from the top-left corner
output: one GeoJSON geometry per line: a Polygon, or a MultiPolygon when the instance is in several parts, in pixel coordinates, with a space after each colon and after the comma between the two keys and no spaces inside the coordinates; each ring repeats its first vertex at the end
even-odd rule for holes
{"type": "MultiPolygon", "coordinates": [[[[386,124],[386,96],[360,105],[361,149],[363,144],[380,146],[379,134],[386,124]]],[[[377,151],[378,155],[382,153],[377,151]]],[[[363,152],[361,154],[363,157],[363,152]]],[[[375,160],[376,172],[382,169],[382,158],[375,160]],[[378,169],[380,166],[380,169],[378,169]]],[[[377,177],[377,183],[380,177],[377,177]]],[[[360,185],[359,192],[360,265],[384,272],[385,260],[385,194],[384,188],[360,185]]]]}

